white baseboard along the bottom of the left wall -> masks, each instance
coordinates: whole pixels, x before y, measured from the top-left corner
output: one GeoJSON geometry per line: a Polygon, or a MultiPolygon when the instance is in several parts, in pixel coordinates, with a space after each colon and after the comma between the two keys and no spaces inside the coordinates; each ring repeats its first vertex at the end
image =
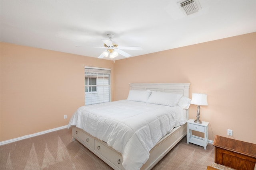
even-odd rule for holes
{"type": "Polygon", "coordinates": [[[53,131],[58,131],[60,129],[65,129],[65,128],[68,128],[68,125],[65,125],[65,126],[62,126],[62,127],[56,127],[54,129],[49,129],[49,130],[38,132],[38,133],[33,133],[33,134],[30,134],[30,135],[25,135],[25,136],[22,136],[22,137],[17,137],[17,138],[10,139],[10,140],[7,140],[7,141],[2,141],[2,142],[0,142],[0,146],[8,144],[8,143],[12,143],[12,142],[20,141],[22,139],[28,139],[30,137],[35,137],[35,136],[38,136],[38,135],[43,135],[45,133],[49,133],[49,132],[53,132],[53,131]]]}

